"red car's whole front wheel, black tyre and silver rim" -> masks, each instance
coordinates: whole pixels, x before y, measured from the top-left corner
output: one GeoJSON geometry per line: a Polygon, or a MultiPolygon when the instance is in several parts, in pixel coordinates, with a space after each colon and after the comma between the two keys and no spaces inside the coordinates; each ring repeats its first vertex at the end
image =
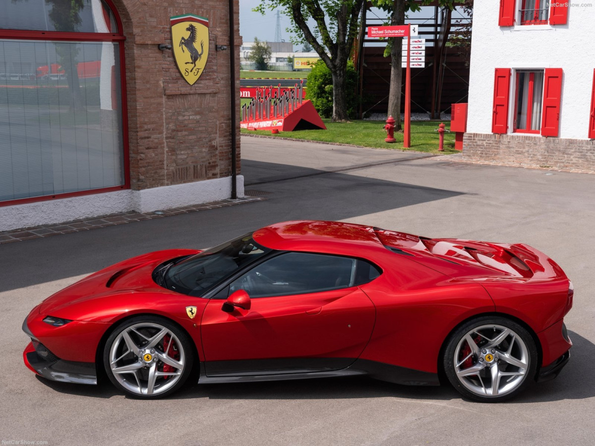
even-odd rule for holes
{"type": "Polygon", "coordinates": [[[184,384],[192,369],[188,335],[156,316],[137,316],[119,325],[104,349],[110,381],[139,398],[165,397],[184,384]]]}

